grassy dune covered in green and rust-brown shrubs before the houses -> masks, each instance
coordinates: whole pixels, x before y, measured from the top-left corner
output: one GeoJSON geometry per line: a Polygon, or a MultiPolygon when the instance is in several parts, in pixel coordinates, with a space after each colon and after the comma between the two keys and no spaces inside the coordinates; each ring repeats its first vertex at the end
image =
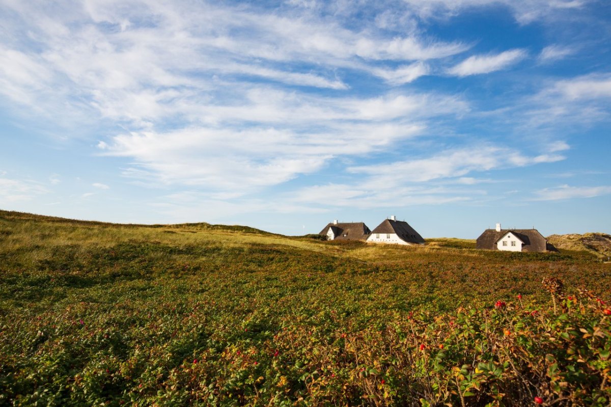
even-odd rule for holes
{"type": "Polygon", "coordinates": [[[584,251],[0,211],[0,405],[609,405],[610,287],[584,251]]]}

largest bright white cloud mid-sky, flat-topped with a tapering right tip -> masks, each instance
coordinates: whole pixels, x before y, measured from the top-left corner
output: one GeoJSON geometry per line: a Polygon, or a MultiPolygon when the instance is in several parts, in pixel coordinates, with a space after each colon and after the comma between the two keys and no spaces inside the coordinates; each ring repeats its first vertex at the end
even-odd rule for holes
{"type": "Polygon", "coordinates": [[[122,134],[100,148],[105,155],[134,158],[136,165],[124,173],[129,177],[247,193],[318,171],[334,156],[363,154],[395,139],[411,138],[420,129],[417,125],[356,124],[329,133],[300,134],[273,128],[192,128],[122,134]]]}

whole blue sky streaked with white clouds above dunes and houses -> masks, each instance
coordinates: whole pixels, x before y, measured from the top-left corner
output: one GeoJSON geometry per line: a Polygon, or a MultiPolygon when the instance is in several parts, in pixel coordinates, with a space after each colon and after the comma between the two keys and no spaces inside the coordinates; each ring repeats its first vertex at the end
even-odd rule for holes
{"type": "Polygon", "coordinates": [[[611,232],[611,7],[0,0],[0,208],[611,232]]]}

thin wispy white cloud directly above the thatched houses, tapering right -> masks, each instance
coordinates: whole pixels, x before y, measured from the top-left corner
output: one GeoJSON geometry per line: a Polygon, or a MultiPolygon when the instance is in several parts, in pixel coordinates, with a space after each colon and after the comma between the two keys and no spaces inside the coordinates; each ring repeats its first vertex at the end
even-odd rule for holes
{"type": "Polygon", "coordinates": [[[477,174],[564,159],[554,153],[524,155],[495,145],[448,149],[415,160],[351,166],[349,173],[365,176],[356,177],[350,183],[328,183],[291,191],[289,200],[298,205],[316,207],[324,202],[326,206],[362,209],[475,202],[487,194],[478,185],[496,182],[492,178],[475,178],[477,174]],[[333,197],[331,202],[329,196],[333,197]]]}

